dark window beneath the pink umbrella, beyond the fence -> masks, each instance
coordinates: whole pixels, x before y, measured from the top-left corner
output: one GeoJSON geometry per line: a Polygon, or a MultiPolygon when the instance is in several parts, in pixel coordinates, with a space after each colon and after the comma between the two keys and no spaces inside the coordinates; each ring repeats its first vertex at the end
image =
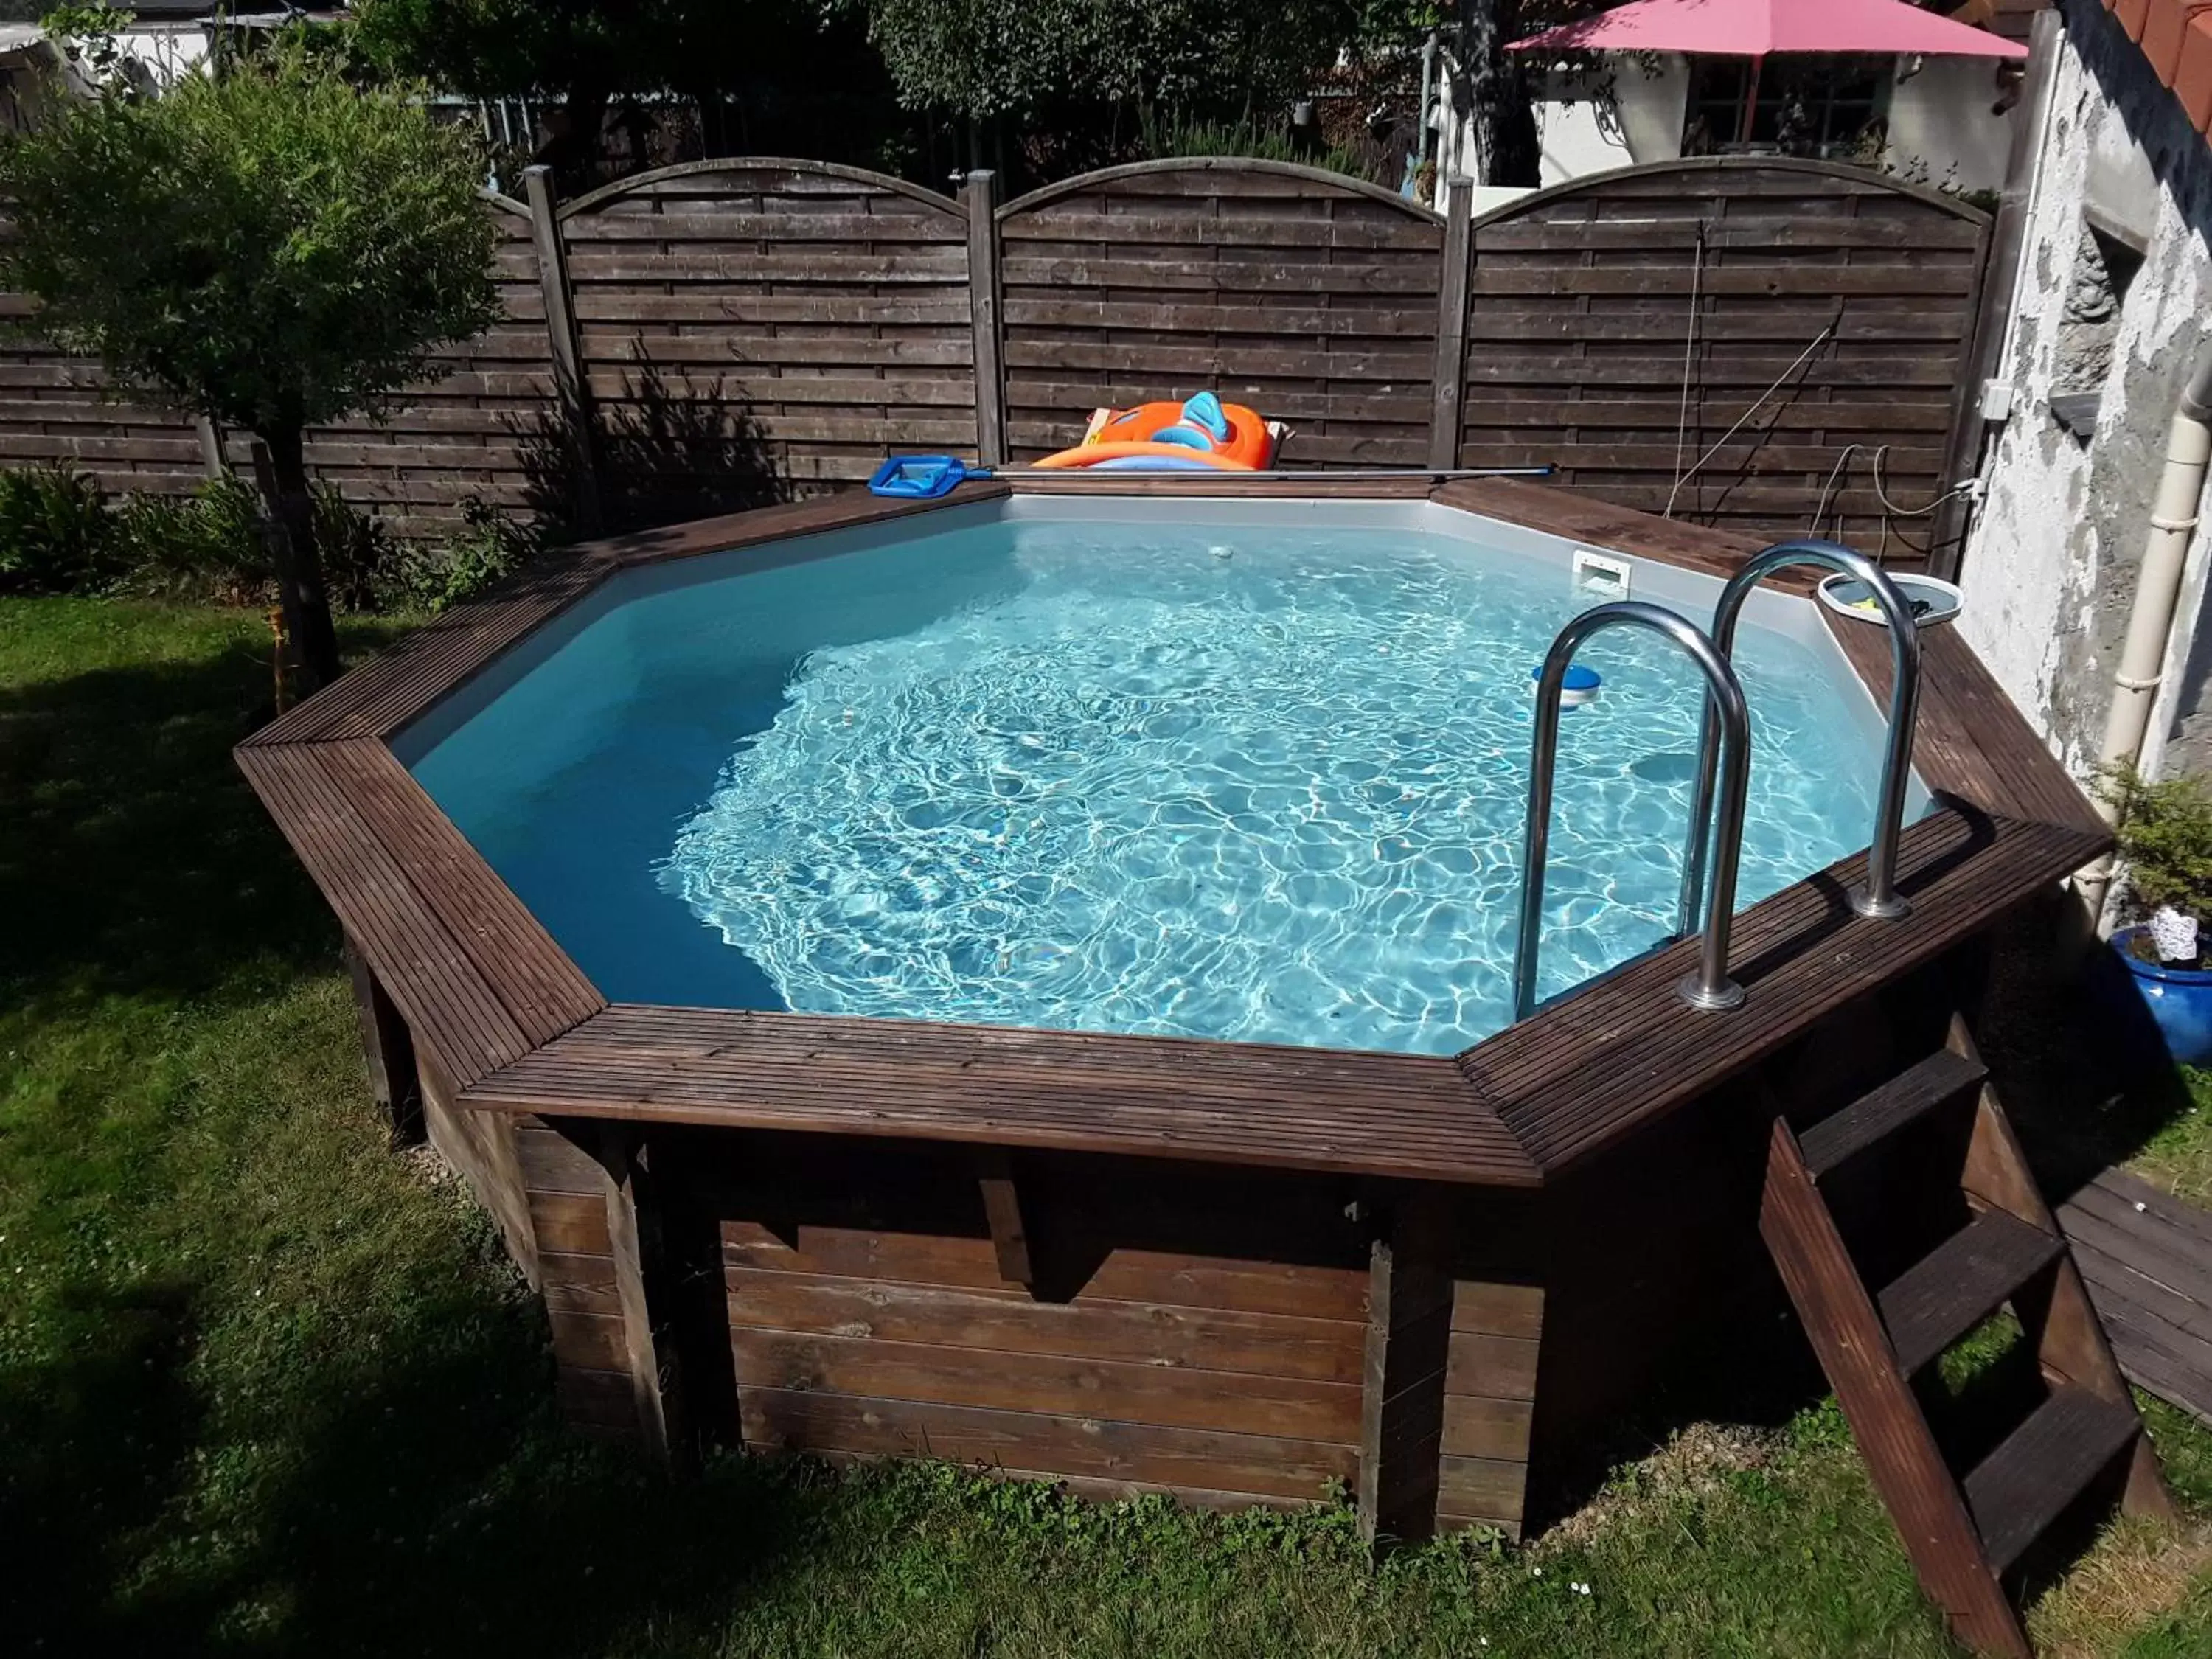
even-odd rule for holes
{"type": "Polygon", "coordinates": [[[1750,142],[1739,142],[1750,58],[1692,58],[1681,153],[1774,150],[1834,161],[1878,150],[1889,115],[1887,58],[1767,58],[1750,142]]]}

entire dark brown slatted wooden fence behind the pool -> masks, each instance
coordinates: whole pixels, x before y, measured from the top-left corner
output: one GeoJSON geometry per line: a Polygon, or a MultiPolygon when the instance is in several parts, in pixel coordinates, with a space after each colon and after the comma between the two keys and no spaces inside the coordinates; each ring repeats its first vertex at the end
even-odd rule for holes
{"type": "MultiPolygon", "coordinates": [[[[1106,168],[995,204],[794,159],[487,192],[507,319],[310,462],[405,535],[471,500],[619,526],[865,478],[891,449],[1033,460],[1097,405],[1214,389],[1294,467],[1555,462],[1756,535],[1816,518],[1918,564],[1966,453],[1989,217],[1770,157],[1577,179],[1473,217],[1276,161],[1106,168]],[[1825,515],[1823,515],[1825,513],[1825,515]]],[[[0,312],[29,307],[0,296],[0,312]]],[[[237,451],[237,445],[230,447],[237,451]]],[[[175,493],[192,422],[0,345],[0,465],[175,493]]]]}

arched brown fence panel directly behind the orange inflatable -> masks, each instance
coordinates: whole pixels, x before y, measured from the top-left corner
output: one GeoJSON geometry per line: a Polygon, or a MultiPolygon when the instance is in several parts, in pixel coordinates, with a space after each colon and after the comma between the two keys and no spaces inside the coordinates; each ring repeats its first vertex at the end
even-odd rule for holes
{"type": "Polygon", "coordinates": [[[1442,221],[1265,161],[1148,161],[1002,210],[1006,438],[1219,392],[1287,420],[1290,467],[1425,467],[1442,221]]]}

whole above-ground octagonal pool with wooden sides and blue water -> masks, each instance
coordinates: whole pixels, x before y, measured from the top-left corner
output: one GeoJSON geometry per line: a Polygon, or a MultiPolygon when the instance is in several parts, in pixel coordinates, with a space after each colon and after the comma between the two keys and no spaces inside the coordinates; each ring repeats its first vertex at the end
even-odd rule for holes
{"type": "Polygon", "coordinates": [[[571,1422],[1520,1533],[1674,1356],[1765,1329],[1776,1115],[1920,1075],[2110,845],[1936,628],[1909,914],[1856,914],[1889,641],[1761,588],[1745,998],[1692,1011],[1699,947],[1650,947],[1703,692],[1604,633],[1555,1000],[1509,1026],[1531,670],[1613,597],[1562,538],[1692,619],[1747,549],[1511,480],[1279,487],[582,544],[239,748],[571,1422]]]}

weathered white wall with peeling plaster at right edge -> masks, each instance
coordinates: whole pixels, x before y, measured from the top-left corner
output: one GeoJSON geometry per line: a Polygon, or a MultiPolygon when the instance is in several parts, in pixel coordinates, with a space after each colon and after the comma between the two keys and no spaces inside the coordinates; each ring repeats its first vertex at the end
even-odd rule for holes
{"type": "MultiPolygon", "coordinates": [[[[1984,462],[1958,626],[2086,774],[2166,427],[2212,334],[2212,148],[2097,0],[2062,0],[2059,13],[2051,126],[2000,367],[2013,403],[1984,462]],[[2093,394],[2095,414],[2068,394],[2093,394]]],[[[2199,533],[2152,723],[2154,745],[2170,741],[2146,754],[2152,770],[2212,761],[2205,553],[2199,533]]]]}

